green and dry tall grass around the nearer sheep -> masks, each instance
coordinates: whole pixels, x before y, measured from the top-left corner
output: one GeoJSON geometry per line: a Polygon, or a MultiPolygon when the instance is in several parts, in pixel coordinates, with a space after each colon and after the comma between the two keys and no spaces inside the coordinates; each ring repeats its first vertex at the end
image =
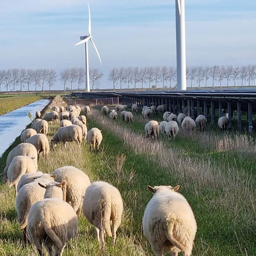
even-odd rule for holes
{"type": "MultiPolygon", "coordinates": [[[[124,220],[118,229],[115,248],[107,241],[100,253],[93,227],[79,217],[79,235],[68,243],[64,255],[153,255],[141,231],[142,216],[151,194],[148,184],[179,184],[197,220],[193,255],[256,255],[255,245],[255,155],[254,140],[247,135],[180,132],[176,140],[161,138],[156,143],[144,138],[140,116],[132,124],[113,123],[93,110],[88,129],[103,130],[99,154],[88,145],[67,149],[57,145],[39,169],[52,172],[63,165],[84,170],[91,181],[105,180],[121,191],[124,220]]],[[[51,125],[50,139],[58,125],[51,125]]],[[[18,141],[16,142],[18,143],[18,141]]],[[[4,167],[0,160],[1,170],[4,167]]],[[[13,188],[0,185],[0,255],[37,255],[22,244],[16,219],[13,188]]]]}

